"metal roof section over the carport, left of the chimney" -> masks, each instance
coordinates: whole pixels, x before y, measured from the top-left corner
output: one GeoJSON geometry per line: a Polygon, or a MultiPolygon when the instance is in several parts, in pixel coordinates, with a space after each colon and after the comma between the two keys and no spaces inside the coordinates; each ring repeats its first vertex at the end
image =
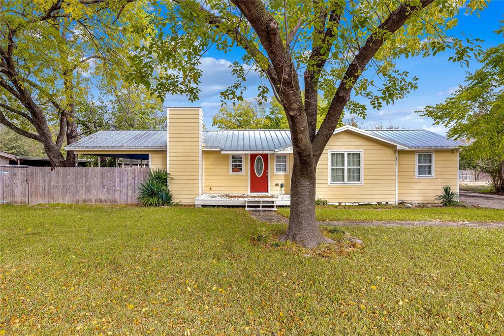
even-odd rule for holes
{"type": "Polygon", "coordinates": [[[65,149],[165,149],[166,130],[106,130],[85,137],[65,149]]]}

